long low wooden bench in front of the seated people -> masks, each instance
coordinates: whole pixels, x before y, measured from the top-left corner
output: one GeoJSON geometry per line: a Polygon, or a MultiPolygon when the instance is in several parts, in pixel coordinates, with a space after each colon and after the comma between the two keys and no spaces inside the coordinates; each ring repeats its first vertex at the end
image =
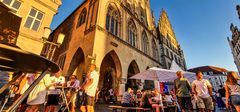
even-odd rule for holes
{"type": "Polygon", "coordinates": [[[113,109],[113,112],[117,112],[117,110],[136,110],[136,112],[146,112],[150,111],[150,108],[142,108],[142,107],[123,107],[123,106],[117,106],[117,105],[110,105],[109,108],[113,109]]]}

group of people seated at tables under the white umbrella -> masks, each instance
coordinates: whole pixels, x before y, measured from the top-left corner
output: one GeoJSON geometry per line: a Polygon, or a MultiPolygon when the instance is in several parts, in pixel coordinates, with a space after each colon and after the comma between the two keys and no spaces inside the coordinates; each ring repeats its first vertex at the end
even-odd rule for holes
{"type": "MultiPolygon", "coordinates": [[[[134,93],[131,88],[128,88],[128,90],[123,94],[121,104],[123,107],[155,108],[156,112],[160,111],[159,109],[161,105],[176,105],[172,92],[160,93],[157,89],[152,91],[148,88],[141,91],[138,90],[136,93],[134,93]]],[[[169,109],[174,111],[174,108],[169,109]]]]}

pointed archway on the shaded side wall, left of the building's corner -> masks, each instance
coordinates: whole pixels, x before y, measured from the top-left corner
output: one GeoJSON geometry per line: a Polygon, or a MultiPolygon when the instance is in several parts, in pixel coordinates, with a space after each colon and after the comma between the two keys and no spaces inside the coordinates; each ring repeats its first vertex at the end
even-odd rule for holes
{"type": "Polygon", "coordinates": [[[78,48],[71,60],[67,76],[76,75],[78,79],[82,80],[85,66],[84,60],[83,50],[78,48]]]}

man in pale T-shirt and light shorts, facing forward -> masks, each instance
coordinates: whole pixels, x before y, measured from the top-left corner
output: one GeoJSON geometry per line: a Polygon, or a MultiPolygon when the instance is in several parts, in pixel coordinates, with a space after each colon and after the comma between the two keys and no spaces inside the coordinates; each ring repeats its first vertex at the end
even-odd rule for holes
{"type": "Polygon", "coordinates": [[[192,89],[197,96],[197,107],[200,112],[212,112],[214,109],[212,100],[212,85],[206,79],[203,79],[202,72],[196,73],[197,80],[192,82],[192,89]]]}

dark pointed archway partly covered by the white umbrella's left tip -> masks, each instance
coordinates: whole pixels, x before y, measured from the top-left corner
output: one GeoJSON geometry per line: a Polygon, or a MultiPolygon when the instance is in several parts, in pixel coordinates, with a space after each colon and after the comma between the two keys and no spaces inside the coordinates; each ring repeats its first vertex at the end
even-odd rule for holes
{"type": "Polygon", "coordinates": [[[133,75],[139,73],[139,67],[136,63],[135,60],[133,60],[130,65],[128,66],[128,74],[127,74],[127,83],[125,86],[125,90],[127,90],[128,88],[132,88],[133,90],[138,90],[140,89],[141,86],[141,80],[136,80],[136,79],[129,79],[130,77],[132,77],[133,75]]]}

